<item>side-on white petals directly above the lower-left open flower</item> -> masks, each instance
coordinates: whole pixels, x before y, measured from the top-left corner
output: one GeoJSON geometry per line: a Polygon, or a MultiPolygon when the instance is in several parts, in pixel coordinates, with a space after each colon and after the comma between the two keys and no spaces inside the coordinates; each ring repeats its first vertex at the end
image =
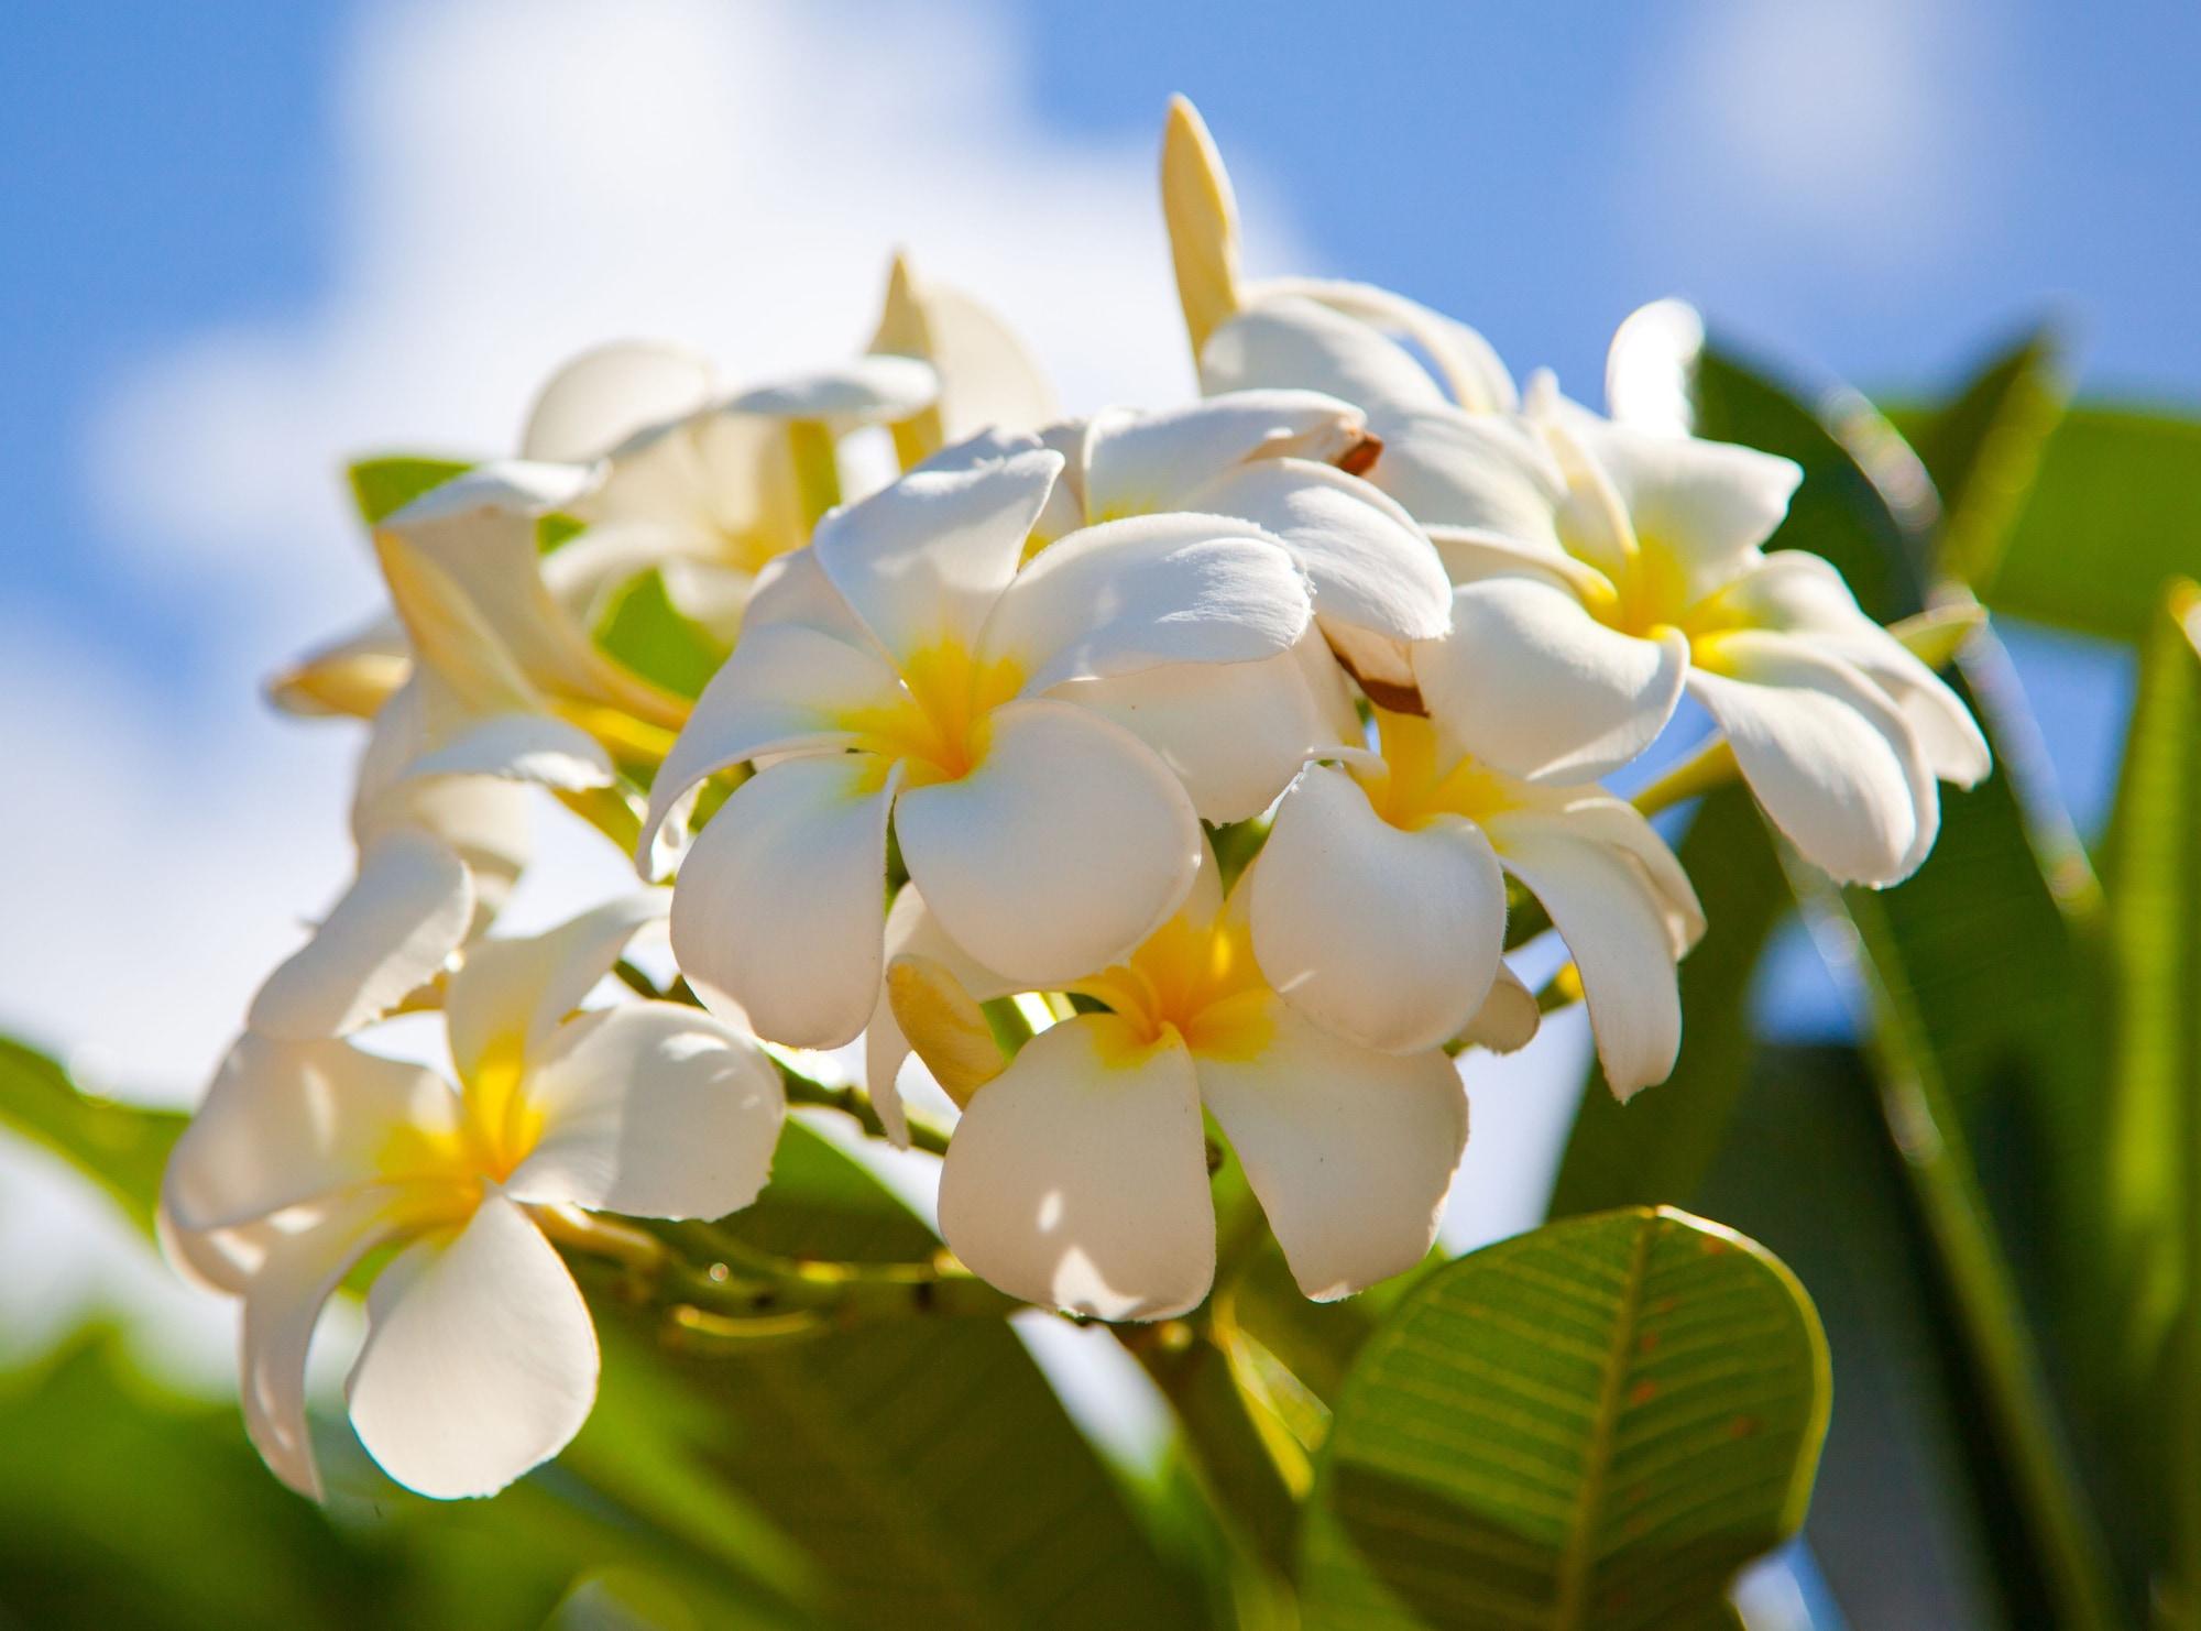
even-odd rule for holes
{"type": "Polygon", "coordinates": [[[420,689],[374,715],[359,759],[359,872],[313,938],[269,975],[247,1026],[306,1041],[398,1008],[495,920],[528,863],[528,792],[495,777],[409,777],[420,689]]]}

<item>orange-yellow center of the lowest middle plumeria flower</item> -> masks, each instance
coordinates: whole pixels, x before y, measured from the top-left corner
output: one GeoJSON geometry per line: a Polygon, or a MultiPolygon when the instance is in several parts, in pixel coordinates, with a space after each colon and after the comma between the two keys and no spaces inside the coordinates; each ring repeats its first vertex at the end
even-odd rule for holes
{"type": "Polygon", "coordinates": [[[1070,988],[1107,1004],[1140,1054],[1175,1032],[1195,1054],[1252,1059],[1272,1035],[1252,931],[1230,913],[1171,918],[1127,962],[1070,988]]]}

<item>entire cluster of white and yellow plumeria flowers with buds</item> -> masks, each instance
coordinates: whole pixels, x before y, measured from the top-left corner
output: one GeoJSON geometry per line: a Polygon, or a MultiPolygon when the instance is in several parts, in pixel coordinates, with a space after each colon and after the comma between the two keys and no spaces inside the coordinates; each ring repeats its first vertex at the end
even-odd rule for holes
{"type": "Polygon", "coordinates": [[[1580,999],[1620,1098],[1673,1070],[1706,920],[1607,779],[1684,696],[1697,784],[1739,775],[1847,883],[1908,876],[1939,781],[1988,773],[1928,663],[1767,548],[1796,464],[1690,436],[1622,350],[1600,416],[1389,291],[1246,280],[1186,103],[1162,205],[1195,401],[1065,418],[896,260],[861,357],[726,390],[607,346],[513,458],[376,515],[390,616],[275,685],[370,720],[357,878],[163,1195],[178,1266],[242,1299],[284,1479],[319,1490],[306,1349],[361,1263],[350,1417],[392,1477],[555,1455],[596,1380],[561,1252],[755,1202],[790,1050],[861,1043],[847,1103],[891,1142],[931,1074],[942,1237],[1012,1299],[1197,1307],[1226,1160],[1301,1290],[1358,1292],[1435,1239],[1470,1050],[1580,999]],[[636,649],[640,588],[693,685],[636,649]],[[647,887],[500,933],[541,790],[647,887]],[[605,982],[660,922],[678,979],[605,982]],[[407,1012],[456,1090],[376,1048],[407,1012]]]}

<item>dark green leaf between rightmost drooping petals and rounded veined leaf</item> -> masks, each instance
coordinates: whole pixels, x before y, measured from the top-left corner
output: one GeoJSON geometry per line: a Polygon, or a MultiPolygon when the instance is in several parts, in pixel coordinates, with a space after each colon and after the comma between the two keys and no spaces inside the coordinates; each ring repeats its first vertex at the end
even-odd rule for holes
{"type": "Polygon", "coordinates": [[[1682,1057],[1673,1076],[1627,1105],[1591,1065],[1558,1162],[1552,1217],[1695,1200],[1743,1092],[1750,986],[1774,927],[1789,913],[1787,878],[1741,786],[1704,799],[1677,854],[1710,924],[1682,962],[1682,1057]]]}

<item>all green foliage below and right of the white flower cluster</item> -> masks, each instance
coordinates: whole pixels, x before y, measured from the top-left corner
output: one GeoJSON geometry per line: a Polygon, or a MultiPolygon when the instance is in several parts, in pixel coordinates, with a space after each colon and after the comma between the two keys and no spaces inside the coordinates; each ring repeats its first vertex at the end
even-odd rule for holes
{"type": "MultiPolygon", "coordinates": [[[[561,1462],[436,1508],[339,1420],[317,1512],[92,1327],[0,1378],[0,1624],[1734,1624],[1734,1569],[1798,1523],[1855,1624],[2192,1624],[2201,423],[2067,405],[2045,330],[1886,412],[1717,341],[1675,361],[1701,434],[1805,464],[1774,548],[1882,621],[1983,603],[2133,649],[2091,847],[1994,619],[1957,676],[1996,773],[1943,790],[1910,883],[1838,891],[1704,797],[1679,1070],[1627,1109],[1583,1083],[1558,1222],[1329,1307],[1239,1252],[1197,1318],[1120,1332],[1180,1426],[1158,1468],[1087,1444],[999,1318],[713,1325],[599,1268],[603,1398],[561,1462]],[[1858,975],[1855,1043],[1752,1030],[1792,913],[1858,975]]],[[[0,1120],[147,1226],[180,1118],[9,1046],[0,1120]]],[[[801,1127],[720,1228],[938,1250],[801,1127]]]]}

